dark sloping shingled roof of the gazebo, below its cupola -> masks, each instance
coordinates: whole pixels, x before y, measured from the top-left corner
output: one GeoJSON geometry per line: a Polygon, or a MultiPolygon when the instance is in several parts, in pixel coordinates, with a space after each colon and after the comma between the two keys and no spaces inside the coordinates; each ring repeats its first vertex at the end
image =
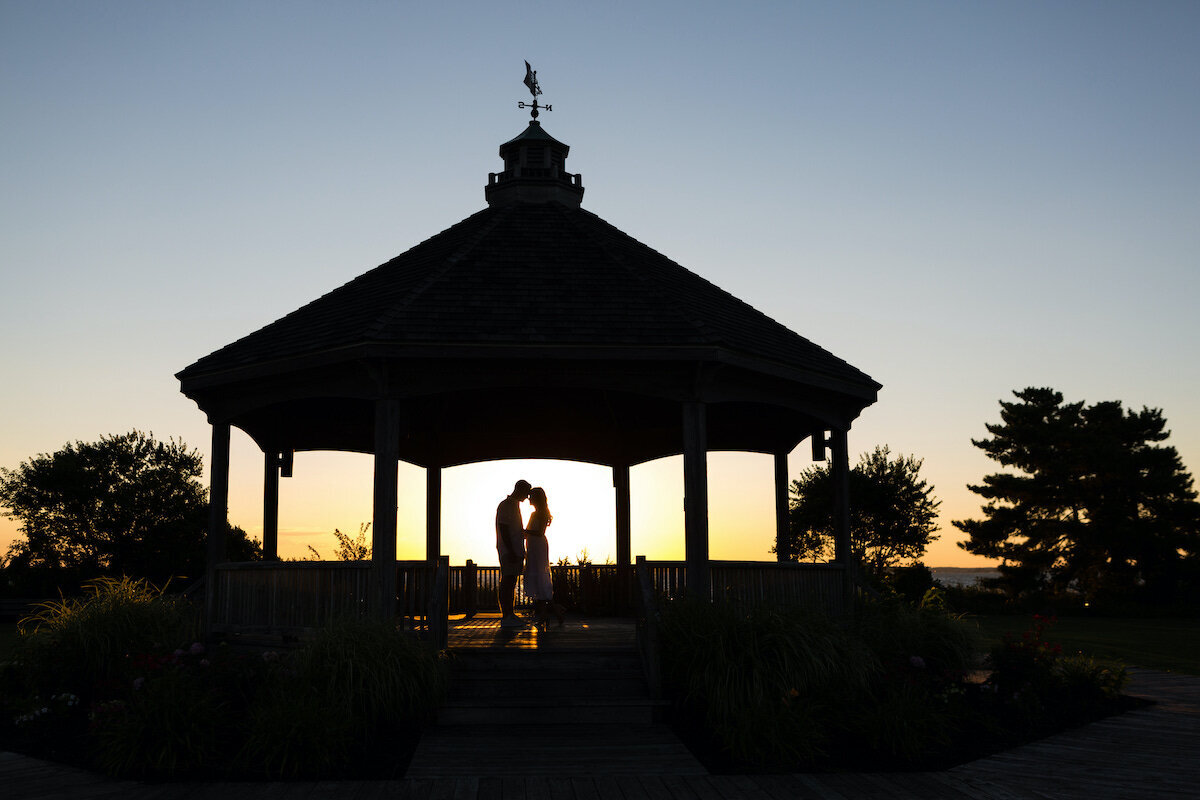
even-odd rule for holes
{"type": "Polygon", "coordinates": [[[553,201],[480,211],[178,377],[362,344],[721,348],[877,389],[594,213],[553,201]]]}

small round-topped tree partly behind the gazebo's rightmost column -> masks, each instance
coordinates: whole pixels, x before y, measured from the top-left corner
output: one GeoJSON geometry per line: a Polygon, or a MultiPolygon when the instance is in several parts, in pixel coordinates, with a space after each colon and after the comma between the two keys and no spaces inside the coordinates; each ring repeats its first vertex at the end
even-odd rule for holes
{"type": "MultiPolygon", "coordinates": [[[[863,453],[850,470],[850,545],[871,576],[918,559],[937,539],[934,487],[920,479],[924,462],[913,456],[892,458],[887,445],[863,453]]],[[[834,555],[833,480],[828,464],[808,468],[792,481],[786,539],[776,537],[781,561],[828,560],[834,555]]]]}

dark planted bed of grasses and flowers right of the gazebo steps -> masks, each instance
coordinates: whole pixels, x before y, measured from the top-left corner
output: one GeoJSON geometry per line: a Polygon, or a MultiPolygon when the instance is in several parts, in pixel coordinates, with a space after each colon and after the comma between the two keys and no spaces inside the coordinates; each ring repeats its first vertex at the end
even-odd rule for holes
{"type": "Polygon", "coordinates": [[[946,769],[1132,708],[1123,669],[1063,656],[1036,618],[986,657],[936,596],[853,622],[670,603],[664,678],[679,735],[714,772],[946,769]]]}

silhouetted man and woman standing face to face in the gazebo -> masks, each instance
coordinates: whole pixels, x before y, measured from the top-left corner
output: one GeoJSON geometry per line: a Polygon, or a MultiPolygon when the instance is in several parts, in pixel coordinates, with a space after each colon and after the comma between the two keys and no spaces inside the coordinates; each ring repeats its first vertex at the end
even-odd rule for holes
{"type": "Polygon", "coordinates": [[[563,624],[563,607],[554,603],[554,584],[550,578],[550,547],[546,528],[554,518],[550,513],[546,491],[517,481],[512,494],[496,507],[496,552],[500,557],[500,627],[524,627],[530,621],[544,625],[548,614],[563,624]],[[521,501],[529,500],[533,513],[529,527],[521,519],[521,501]],[[533,620],[512,610],[517,578],[524,575],[524,594],[533,600],[533,620]]]}

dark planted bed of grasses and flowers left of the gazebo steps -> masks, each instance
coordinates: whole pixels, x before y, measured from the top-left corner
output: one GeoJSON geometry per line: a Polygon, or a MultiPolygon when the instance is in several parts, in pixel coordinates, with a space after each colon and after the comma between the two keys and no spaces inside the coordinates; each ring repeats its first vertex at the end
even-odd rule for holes
{"type": "Polygon", "coordinates": [[[438,655],[385,624],[286,652],[194,631],[186,602],[144,582],[47,606],[4,667],[4,746],[120,777],[391,777],[444,691],[438,655]]]}

